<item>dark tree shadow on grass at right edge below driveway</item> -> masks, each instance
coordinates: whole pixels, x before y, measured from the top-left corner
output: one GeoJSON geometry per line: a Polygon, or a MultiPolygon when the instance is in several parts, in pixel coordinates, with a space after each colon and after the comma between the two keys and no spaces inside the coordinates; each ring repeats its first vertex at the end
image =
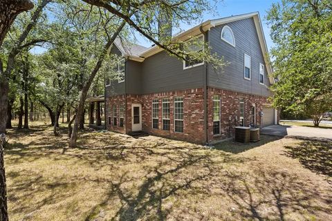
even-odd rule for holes
{"type": "Polygon", "coordinates": [[[285,148],[286,155],[298,159],[307,169],[332,177],[332,142],[305,141],[285,148]]]}

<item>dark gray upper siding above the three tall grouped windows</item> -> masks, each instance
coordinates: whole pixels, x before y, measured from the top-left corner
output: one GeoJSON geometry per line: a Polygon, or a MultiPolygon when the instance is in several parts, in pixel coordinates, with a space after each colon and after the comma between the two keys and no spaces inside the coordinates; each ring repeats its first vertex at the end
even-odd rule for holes
{"type": "Polygon", "coordinates": [[[205,66],[183,70],[183,61],[162,51],[142,63],[142,94],[201,88],[205,66]]]}

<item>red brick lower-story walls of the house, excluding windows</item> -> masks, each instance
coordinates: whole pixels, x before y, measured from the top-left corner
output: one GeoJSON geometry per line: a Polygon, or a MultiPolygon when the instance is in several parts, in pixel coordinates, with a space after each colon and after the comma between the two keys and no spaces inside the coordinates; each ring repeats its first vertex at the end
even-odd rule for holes
{"type": "MultiPolygon", "coordinates": [[[[266,97],[248,95],[230,90],[208,88],[208,142],[215,142],[234,136],[234,127],[239,126],[240,99],[244,99],[245,126],[250,123],[250,106],[256,104],[256,122],[261,124],[259,111],[268,103],[266,97]],[[213,135],[213,95],[221,98],[221,133],[213,135]]],[[[130,133],[131,130],[131,104],[142,105],[142,131],[151,135],[168,137],[176,140],[187,140],[194,143],[205,143],[204,135],[204,99],[203,88],[178,90],[149,95],[118,95],[107,97],[107,120],[111,117],[111,124],[107,122],[107,129],[120,133],[130,133]],[[174,132],[174,97],[183,97],[183,133],[174,132]],[[162,126],[162,99],[169,98],[170,104],[170,130],[164,131],[162,126]],[[126,103],[124,126],[120,127],[120,104],[126,103]],[[152,128],[152,99],[158,99],[158,129],[152,128]],[[118,125],[113,126],[113,105],[117,107],[118,125]],[[110,111],[110,112],[109,112],[110,111]]]]}

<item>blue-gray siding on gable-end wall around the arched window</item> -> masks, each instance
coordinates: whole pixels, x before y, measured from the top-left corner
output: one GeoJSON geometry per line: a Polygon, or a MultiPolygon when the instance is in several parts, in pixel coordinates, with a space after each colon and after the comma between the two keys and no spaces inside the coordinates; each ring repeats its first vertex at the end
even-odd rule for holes
{"type": "Polygon", "coordinates": [[[212,53],[224,57],[230,64],[225,68],[224,73],[215,73],[211,67],[208,68],[208,86],[235,90],[242,93],[262,95],[268,97],[272,95],[267,87],[270,87],[270,81],[265,68],[264,83],[259,84],[259,63],[265,64],[264,56],[261,52],[259,39],[252,18],[243,19],[227,23],[232,28],[235,38],[235,48],[225,41],[221,40],[222,26],[211,28],[209,32],[210,46],[212,53]],[[243,77],[244,53],[251,57],[251,80],[243,77]]]}

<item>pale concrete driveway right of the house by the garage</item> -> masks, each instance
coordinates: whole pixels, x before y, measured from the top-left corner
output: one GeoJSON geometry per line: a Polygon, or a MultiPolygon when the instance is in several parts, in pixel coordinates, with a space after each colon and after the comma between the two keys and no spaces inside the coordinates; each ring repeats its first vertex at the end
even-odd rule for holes
{"type": "Polygon", "coordinates": [[[308,140],[332,141],[332,129],[313,128],[308,126],[266,126],[261,128],[261,134],[282,137],[295,137],[308,140]]]}

